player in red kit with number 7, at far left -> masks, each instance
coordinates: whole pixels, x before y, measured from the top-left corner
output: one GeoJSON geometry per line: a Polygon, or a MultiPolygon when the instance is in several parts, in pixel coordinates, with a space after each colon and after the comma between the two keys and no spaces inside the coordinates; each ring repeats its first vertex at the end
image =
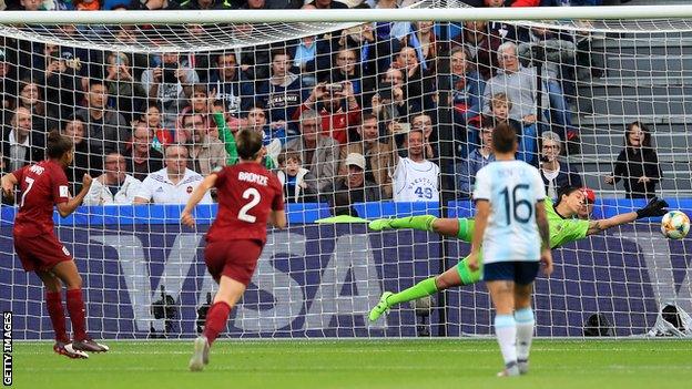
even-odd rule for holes
{"type": "Polygon", "coordinates": [[[91,176],[84,175],[82,190],[70,196],[64,168],[74,157],[72,141],[53,131],[48,136],[48,160],[27,165],[2,177],[2,193],[12,198],[19,185],[21,198],[14,218],[14,250],[27,272],[34,272],[45,286],[45,306],[53,324],[53,350],[70,358],[88,358],[84,351],[102,352],[108,347],[91,340],[86,335],[82,278],[70,252],[53,232],[53,205],[60,216],[67,217],[82,203],[91,187],[91,176]],[[65,330],[65,317],[60,291],[65,285],[67,306],[72,321],[74,339],[65,330]]]}

